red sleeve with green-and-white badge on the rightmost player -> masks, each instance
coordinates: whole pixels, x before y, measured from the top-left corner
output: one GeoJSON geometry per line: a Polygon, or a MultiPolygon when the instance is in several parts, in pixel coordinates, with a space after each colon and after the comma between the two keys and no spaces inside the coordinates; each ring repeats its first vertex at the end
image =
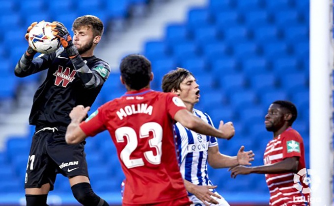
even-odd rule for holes
{"type": "Polygon", "coordinates": [[[293,131],[286,132],[285,136],[282,138],[283,146],[283,159],[293,156],[302,156],[302,137],[293,131]]]}

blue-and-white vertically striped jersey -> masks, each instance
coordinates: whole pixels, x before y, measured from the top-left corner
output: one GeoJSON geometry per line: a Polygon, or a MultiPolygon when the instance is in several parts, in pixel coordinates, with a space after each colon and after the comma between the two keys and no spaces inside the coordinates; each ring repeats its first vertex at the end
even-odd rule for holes
{"type": "MultiPolygon", "coordinates": [[[[206,113],[193,109],[193,114],[214,127],[206,113]]],[[[207,158],[209,147],[218,145],[216,137],[199,134],[180,123],[174,129],[182,177],[196,185],[213,185],[208,176],[207,158]]]]}

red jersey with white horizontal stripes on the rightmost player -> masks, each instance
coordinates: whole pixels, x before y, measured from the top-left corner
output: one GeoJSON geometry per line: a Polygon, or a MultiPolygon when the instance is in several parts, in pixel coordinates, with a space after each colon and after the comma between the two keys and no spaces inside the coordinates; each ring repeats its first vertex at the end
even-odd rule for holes
{"type": "MultiPolygon", "coordinates": [[[[264,164],[274,164],[293,156],[299,157],[298,171],[306,167],[303,138],[295,129],[289,127],[267,144],[264,164]]],[[[271,206],[304,205],[298,202],[303,199],[303,195],[294,187],[294,175],[292,172],[265,175],[271,206]]]]}

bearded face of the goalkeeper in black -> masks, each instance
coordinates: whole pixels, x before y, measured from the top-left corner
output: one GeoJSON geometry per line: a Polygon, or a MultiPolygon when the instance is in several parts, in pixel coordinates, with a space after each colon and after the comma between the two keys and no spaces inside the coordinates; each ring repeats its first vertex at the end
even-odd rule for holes
{"type": "Polygon", "coordinates": [[[82,26],[78,30],[73,30],[73,44],[78,48],[78,52],[83,54],[93,47],[94,36],[91,28],[82,26]]]}

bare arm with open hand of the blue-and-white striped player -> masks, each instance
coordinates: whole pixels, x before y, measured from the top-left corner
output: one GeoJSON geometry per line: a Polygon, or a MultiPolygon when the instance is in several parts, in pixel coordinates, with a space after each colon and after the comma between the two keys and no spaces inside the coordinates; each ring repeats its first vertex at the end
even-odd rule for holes
{"type": "Polygon", "coordinates": [[[228,156],[219,152],[219,147],[209,147],[208,163],[213,168],[235,167],[237,165],[251,165],[254,160],[252,151],[244,152],[245,147],[241,146],[237,156],[228,156]]]}

